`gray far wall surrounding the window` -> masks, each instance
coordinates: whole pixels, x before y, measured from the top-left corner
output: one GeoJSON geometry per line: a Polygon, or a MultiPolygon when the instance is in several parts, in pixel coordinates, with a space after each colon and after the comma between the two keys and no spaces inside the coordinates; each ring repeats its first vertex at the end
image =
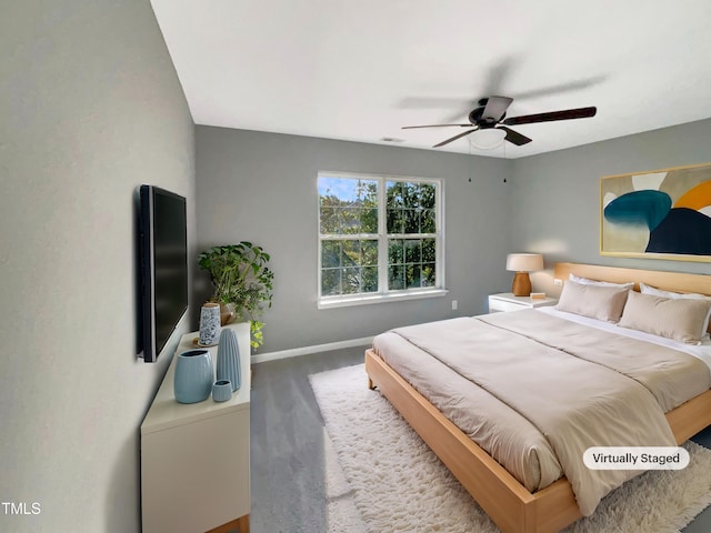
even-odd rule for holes
{"type": "MultiPolygon", "coordinates": [[[[261,353],[484,312],[487,294],[510,286],[510,187],[502,180],[510,161],[211,127],[197,127],[196,147],[198,249],[248,240],[272,257],[274,300],[261,353]],[[319,311],[319,170],[442,178],[450,293],[319,311]]],[[[196,302],[209,296],[206,273],[196,288],[196,302]]]]}

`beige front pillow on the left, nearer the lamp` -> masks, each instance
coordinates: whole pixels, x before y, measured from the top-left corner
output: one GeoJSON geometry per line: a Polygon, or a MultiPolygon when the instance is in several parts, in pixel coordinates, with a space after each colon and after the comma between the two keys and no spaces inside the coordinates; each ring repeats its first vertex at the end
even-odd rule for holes
{"type": "Polygon", "coordinates": [[[567,281],[555,309],[614,323],[620,320],[628,292],[630,290],[623,286],[567,281]]]}

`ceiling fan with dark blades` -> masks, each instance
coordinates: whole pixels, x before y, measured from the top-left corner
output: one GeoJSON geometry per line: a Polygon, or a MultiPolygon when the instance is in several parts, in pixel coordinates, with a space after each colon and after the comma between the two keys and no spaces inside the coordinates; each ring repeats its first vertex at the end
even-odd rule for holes
{"type": "Polygon", "coordinates": [[[443,147],[457,139],[469,135],[474,131],[480,130],[502,130],[505,133],[504,140],[520,147],[522,144],[531,142],[532,139],[513,131],[508,125],[517,124],[532,124],[534,122],[551,122],[555,120],[570,120],[570,119],[584,119],[588,117],[594,117],[598,112],[598,108],[579,108],[567,109],[562,111],[551,111],[548,113],[524,114],[522,117],[505,118],[507,109],[513,102],[512,98],[507,97],[489,97],[479,100],[479,107],[469,113],[469,124],[429,124],[429,125],[404,125],[403,130],[410,130],[413,128],[447,128],[451,125],[461,128],[471,128],[470,130],[459,133],[445,141],[434,144],[432,148],[443,147]]]}

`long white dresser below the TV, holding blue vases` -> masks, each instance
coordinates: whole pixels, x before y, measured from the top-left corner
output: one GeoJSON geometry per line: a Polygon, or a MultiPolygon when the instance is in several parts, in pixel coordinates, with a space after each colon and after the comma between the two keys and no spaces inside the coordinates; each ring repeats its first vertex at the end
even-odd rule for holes
{"type": "MultiPolygon", "coordinates": [[[[173,355],[141,424],[143,533],[249,532],[249,323],[229,324],[237,333],[242,385],[226,402],[176,401],[173,355]]],[[[177,353],[192,350],[188,333],[177,353]]],[[[213,369],[217,346],[210,348],[213,369]]]]}

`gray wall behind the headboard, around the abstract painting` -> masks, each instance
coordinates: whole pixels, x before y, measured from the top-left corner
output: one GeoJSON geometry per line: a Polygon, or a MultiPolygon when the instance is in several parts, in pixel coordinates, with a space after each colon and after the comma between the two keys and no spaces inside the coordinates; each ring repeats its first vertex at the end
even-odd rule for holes
{"type": "MultiPolygon", "coordinates": [[[[709,273],[709,263],[600,255],[600,178],[711,161],[711,120],[513,161],[511,239],[557,261],[709,273]]],[[[551,272],[533,289],[557,294],[551,272]]]]}

